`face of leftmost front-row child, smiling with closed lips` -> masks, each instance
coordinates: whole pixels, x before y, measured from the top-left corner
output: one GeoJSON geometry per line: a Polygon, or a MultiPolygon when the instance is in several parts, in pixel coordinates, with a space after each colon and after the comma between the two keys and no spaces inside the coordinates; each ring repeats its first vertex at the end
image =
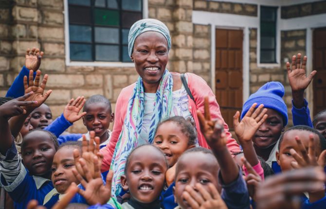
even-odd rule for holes
{"type": "Polygon", "coordinates": [[[45,131],[30,132],[23,139],[21,155],[31,175],[49,177],[55,152],[54,142],[45,131]]]}

